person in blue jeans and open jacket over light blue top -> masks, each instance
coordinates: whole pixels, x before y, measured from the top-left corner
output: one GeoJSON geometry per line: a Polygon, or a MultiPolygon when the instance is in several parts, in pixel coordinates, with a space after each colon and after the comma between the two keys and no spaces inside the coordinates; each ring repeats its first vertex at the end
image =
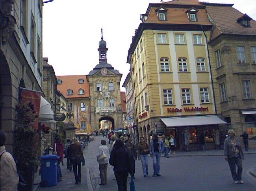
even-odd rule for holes
{"type": "Polygon", "coordinates": [[[153,158],[154,176],[160,175],[160,151],[162,148],[161,140],[158,139],[157,134],[153,134],[153,140],[150,142],[150,156],[153,158]]]}

